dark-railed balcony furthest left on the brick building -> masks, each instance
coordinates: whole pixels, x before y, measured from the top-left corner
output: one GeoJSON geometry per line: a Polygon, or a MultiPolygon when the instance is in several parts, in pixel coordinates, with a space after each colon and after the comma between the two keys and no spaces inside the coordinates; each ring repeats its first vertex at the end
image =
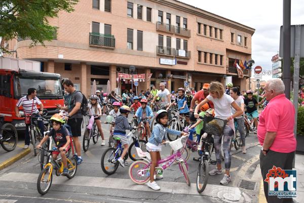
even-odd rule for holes
{"type": "Polygon", "coordinates": [[[115,49],[114,35],[90,32],[90,46],[115,49]]]}

